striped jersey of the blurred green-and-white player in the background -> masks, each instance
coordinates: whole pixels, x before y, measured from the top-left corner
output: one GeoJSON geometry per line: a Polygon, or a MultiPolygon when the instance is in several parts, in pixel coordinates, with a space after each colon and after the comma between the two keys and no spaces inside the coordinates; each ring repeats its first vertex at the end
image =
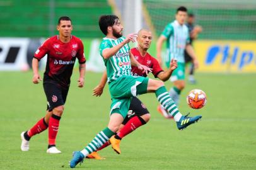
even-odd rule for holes
{"type": "Polygon", "coordinates": [[[184,50],[187,43],[189,43],[189,28],[186,25],[180,25],[175,20],[165,26],[165,30],[163,30],[161,35],[167,38],[165,61],[170,63],[170,60],[175,59],[178,62],[184,63],[184,50]]]}

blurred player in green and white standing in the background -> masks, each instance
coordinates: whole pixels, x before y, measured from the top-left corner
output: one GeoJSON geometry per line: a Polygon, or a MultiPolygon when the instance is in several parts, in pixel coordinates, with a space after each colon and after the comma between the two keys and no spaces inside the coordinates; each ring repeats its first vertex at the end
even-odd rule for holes
{"type": "MultiPolygon", "coordinates": [[[[166,25],[156,43],[158,61],[161,62],[161,48],[166,41],[167,54],[165,57],[166,67],[170,65],[172,59],[177,60],[178,67],[173,71],[170,80],[173,82],[173,88],[169,93],[176,105],[178,105],[180,92],[185,88],[185,56],[184,50],[192,57],[195,68],[198,67],[197,57],[192,46],[189,44],[189,29],[185,25],[187,18],[187,8],[180,6],[177,9],[176,20],[166,25]]],[[[163,110],[165,111],[165,110],[163,110]]]]}

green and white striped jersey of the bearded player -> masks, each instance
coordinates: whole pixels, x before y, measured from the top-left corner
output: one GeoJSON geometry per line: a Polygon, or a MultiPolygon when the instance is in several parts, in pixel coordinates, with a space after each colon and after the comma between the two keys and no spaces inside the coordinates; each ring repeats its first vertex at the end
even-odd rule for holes
{"type": "MultiPolygon", "coordinates": [[[[117,38],[116,40],[112,38],[103,38],[102,43],[100,43],[100,55],[106,48],[112,48],[123,42],[125,37],[117,38]]],[[[110,57],[109,59],[104,59],[105,66],[107,67],[107,77],[108,83],[116,80],[121,76],[131,76],[131,60],[129,55],[130,47],[126,43],[120,50],[110,57]]]]}

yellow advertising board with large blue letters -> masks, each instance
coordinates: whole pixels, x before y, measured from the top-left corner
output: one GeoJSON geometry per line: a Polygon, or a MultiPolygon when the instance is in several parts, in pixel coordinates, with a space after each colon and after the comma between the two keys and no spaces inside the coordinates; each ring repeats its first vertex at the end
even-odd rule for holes
{"type": "Polygon", "coordinates": [[[196,40],[200,72],[256,72],[256,41],[196,40]]]}

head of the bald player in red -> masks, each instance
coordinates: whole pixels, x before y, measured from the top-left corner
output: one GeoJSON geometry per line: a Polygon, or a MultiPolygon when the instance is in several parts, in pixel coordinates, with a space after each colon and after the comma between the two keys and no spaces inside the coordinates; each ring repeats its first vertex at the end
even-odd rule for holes
{"type": "Polygon", "coordinates": [[[150,31],[142,30],[137,37],[137,43],[143,50],[148,50],[151,45],[151,41],[152,33],[150,31]]]}

